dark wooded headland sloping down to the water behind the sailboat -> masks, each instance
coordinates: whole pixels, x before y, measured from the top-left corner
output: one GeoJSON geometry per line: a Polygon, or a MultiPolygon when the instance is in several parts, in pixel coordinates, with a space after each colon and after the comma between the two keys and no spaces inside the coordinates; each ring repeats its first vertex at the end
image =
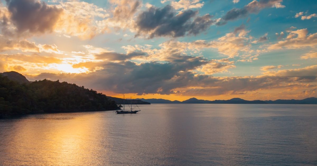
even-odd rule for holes
{"type": "MultiPolygon", "coordinates": [[[[123,104],[123,99],[76,84],[46,79],[30,82],[15,71],[0,73],[0,91],[0,118],[30,113],[116,110],[123,104]]],[[[150,104],[140,100],[132,103],[150,104]]]]}

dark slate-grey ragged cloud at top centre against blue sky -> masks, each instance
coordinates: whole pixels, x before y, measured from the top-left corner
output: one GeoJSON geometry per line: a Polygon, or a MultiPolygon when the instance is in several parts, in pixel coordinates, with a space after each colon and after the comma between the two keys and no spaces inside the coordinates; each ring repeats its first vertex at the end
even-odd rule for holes
{"type": "Polygon", "coordinates": [[[138,34],[148,34],[149,38],[155,36],[180,37],[186,34],[199,34],[213,23],[209,14],[198,16],[198,11],[185,10],[175,14],[170,5],[164,8],[151,7],[140,13],[136,21],[138,34]],[[192,21],[192,19],[194,19],[192,21]]]}

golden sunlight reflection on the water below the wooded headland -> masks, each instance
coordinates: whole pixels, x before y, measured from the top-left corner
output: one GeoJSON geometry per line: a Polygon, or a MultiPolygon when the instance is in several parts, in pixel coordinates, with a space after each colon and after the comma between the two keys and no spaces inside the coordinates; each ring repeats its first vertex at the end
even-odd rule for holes
{"type": "MultiPolygon", "coordinates": [[[[75,113],[76,114],[76,113],[75,113]]],[[[40,115],[41,121],[21,119],[15,126],[14,137],[10,142],[7,153],[12,159],[19,159],[22,165],[30,161],[36,165],[82,165],[93,163],[98,156],[100,144],[91,140],[107,138],[107,130],[102,130],[98,124],[105,123],[96,114],[71,116],[63,114],[40,115]],[[102,122],[100,122],[102,120],[102,122]],[[54,121],[54,124],[47,123],[54,121]],[[22,157],[22,158],[21,158],[22,157]],[[24,163],[25,162],[25,163],[24,163]]],[[[102,145],[107,146],[107,139],[101,139],[102,145]]],[[[102,149],[102,153],[107,148],[102,149]]]]}

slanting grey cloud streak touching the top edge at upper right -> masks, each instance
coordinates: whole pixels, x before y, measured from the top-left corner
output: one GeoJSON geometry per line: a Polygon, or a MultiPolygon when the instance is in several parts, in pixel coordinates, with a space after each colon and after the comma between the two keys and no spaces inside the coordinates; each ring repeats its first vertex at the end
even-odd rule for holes
{"type": "Polygon", "coordinates": [[[246,17],[249,13],[257,13],[265,8],[284,8],[285,6],[281,4],[283,0],[254,0],[249,4],[245,5],[241,9],[231,9],[228,11],[222,18],[221,22],[218,22],[217,25],[224,25],[227,21],[235,20],[240,17],[246,17]]]}

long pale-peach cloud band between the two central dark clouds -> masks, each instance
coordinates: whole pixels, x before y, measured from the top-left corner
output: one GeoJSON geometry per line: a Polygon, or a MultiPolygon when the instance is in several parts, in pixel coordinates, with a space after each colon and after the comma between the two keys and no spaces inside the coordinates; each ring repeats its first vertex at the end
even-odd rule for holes
{"type": "MultiPolygon", "coordinates": [[[[165,61],[166,57],[171,55],[187,54],[186,52],[191,52],[193,54],[199,54],[202,49],[215,48],[220,54],[226,55],[229,58],[239,56],[240,54],[248,53],[244,55],[243,58],[250,58],[248,61],[256,60],[258,53],[251,50],[251,38],[247,36],[249,31],[240,27],[240,30],[236,30],[236,33],[228,33],[216,40],[206,41],[206,40],[196,40],[193,42],[179,42],[179,41],[166,41],[159,46],[160,49],[151,49],[150,47],[136,46],[124,46],[123,48],[127,52],[134,52],[136,50],[146,52],[149,59],[156,59],[165,61]]],[[[247,60],[245,60],[247,61],[247,60]]]]}

